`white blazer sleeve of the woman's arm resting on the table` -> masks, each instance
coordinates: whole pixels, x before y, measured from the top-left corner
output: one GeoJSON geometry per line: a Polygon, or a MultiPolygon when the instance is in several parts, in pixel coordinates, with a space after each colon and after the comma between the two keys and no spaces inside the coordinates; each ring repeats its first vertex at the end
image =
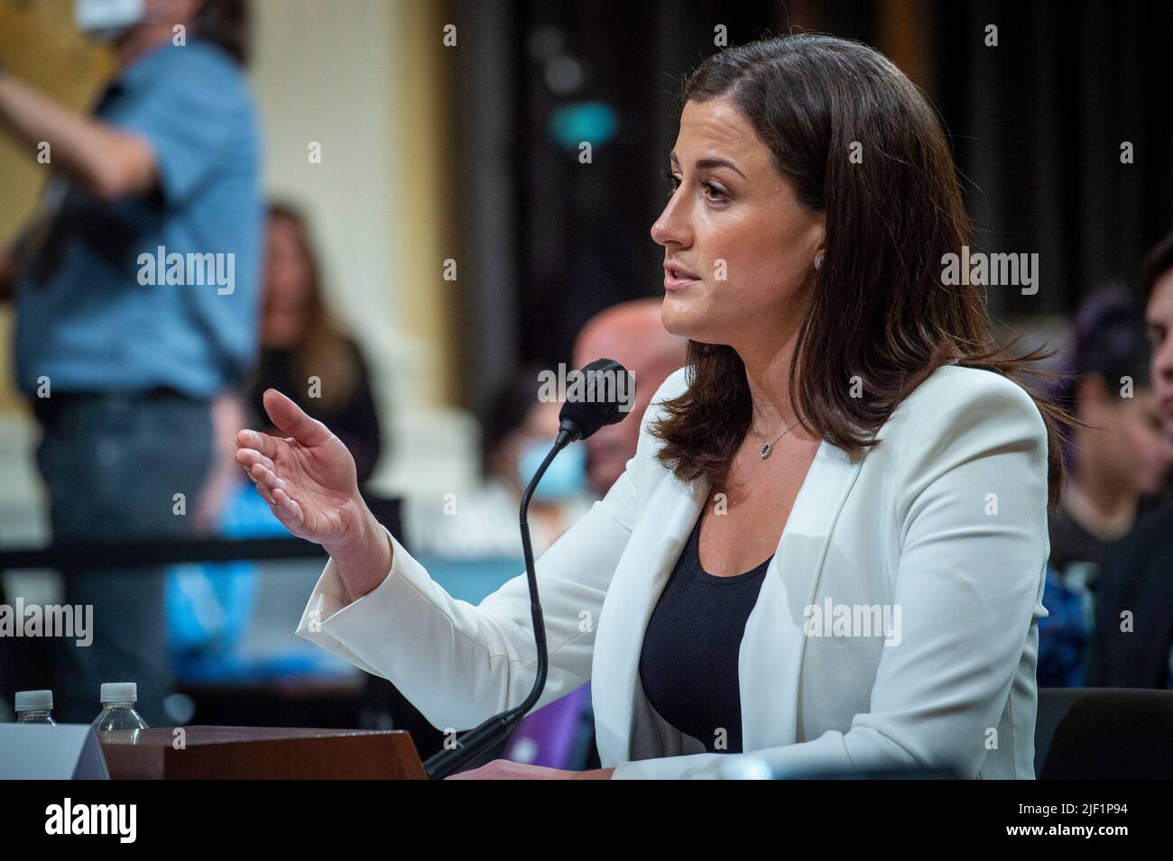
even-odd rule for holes
{"type": "Polygon", "coordinates": [[[906,402],[889,443],[901,446],[888,517],[899,533],[902,640],[882,649],[870,709],[847,732],[623,763],[612,779],[718,778],[747,757],[793,777],[950,766],[975,778],[986,745],[1010,744],[996,727],[1042,607],[1050,549],[1046,426],[1025,390],[992,373],[924,394],[906,402]]]}

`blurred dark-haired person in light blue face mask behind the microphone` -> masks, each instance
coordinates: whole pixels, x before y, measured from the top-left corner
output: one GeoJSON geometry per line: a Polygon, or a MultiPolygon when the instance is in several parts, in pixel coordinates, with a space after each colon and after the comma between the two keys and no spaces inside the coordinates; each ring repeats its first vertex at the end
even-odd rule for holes
{"type": "MultiPolygon", "coordinates": [[[[466,493],[413,505],[412,544],[449,559],[521,558],[517,510],[530,478],[558,436],[557,401],[540,399],[537,368],[501,383],[481,411],[483,484],[466,493]]],[[[538,556],[591,505],[586,450],[569,445],[550,464],[529,505],[538,556]]]]}

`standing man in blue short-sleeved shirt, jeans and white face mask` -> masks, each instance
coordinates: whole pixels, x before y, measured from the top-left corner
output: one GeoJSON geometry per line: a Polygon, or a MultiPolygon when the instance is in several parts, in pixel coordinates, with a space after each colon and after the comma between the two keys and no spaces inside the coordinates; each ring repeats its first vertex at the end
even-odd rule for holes
{"type": "MultiPolygon", "coordinates": [[[[52,171],[0,262],[16,384],[42,429],[55,541],[183,538],[202,512],[211,520],[213,428],[236,422],[232,390],[256,351],[263,200],[245,6],[77,0],[75,15],[116,60],[90,115],[0,69],[0,128],[29,153],[47,144],[52,171]]],[[[162,569],[75,568],[63,601],[93,606],[94,640],[49,647],[54,677],[36,686],[54,689],[57,718],[89,722],[102,682],[133,681],[142,716],[165,723],[162,569]]]]}

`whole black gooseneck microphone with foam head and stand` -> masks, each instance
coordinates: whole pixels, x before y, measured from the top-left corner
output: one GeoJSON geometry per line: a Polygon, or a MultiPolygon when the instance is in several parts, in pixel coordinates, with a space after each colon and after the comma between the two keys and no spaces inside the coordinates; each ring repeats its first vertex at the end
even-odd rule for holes
{"type": "Polygon", "coordinates": [[[529,606],[534,621],[534,642],[537,647],[537,676],[529,696],[521,705],[508,709],[500,715],[494,715],[480,726],[469,730],[456,740],[456,746],[452,750],[440,751],[428,757],[423,764],[432,780],[440,780],[459,771],[462,766],[479,757],[484,751],[508,738],[527,712],[542,696],[545,688],[545,676],[549,658],[545,647],[545,623],[542,620],[542,604],[537,596],[537,573],[534,568],[534,548],[529,539],[529,500],[534,496],[537,483],[542,480],[545,470],[570,443],[585,439],[591,433],[609,424],[622,422],[631,408],[635,399],[635,378],[626,368],[613,358],[596,358],[594,362],[578,371],[579,380],[585,381],[585,398],[569,397],[562,404],[558,412],[558,436],[550,447],[550,452],[537,467],[537,472],[529,480],[526,492],[521,496],[521,547],[526,556],[526,576],[529,581],[529,606]],[[628,409],[619,409],[619,392],[625,392],[628,397],[628,409]]]}

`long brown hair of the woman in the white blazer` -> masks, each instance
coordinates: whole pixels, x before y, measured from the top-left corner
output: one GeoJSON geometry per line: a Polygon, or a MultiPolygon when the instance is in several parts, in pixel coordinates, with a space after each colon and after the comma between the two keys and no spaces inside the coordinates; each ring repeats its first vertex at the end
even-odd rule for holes
{"type": "MultiPolygon", "coordinates": [[[[945,287],[942,258],[972,228],[941,123],[921,91],[861,42],[802,33],[713,54],[689,75],[686,102],[727,98],[746,116],[799,201],[826,213],[789,394],[802,426],[857,450],[934,370],[956,363],[1016,382],[1055,351],[998,346],[978,286],[945,287]],[[854,146],[853,146],[854,145],[854,146]],[[852,159],[860,152],[861,159],[852,159]],[[801,374],[799,370],[801,369],[801,374]],[[866,397],[843,381],[859,376],[866,397]]],[[[724,480],[752,421],[745,365],[732,347],[689,342],[691,385],[665,402],[651,432],[678,478],[724,480]]],[[[1063,480],[1060,428],[1080,424],[1030,392],[1047,428],[1049,503],[1063,480]]]]}

